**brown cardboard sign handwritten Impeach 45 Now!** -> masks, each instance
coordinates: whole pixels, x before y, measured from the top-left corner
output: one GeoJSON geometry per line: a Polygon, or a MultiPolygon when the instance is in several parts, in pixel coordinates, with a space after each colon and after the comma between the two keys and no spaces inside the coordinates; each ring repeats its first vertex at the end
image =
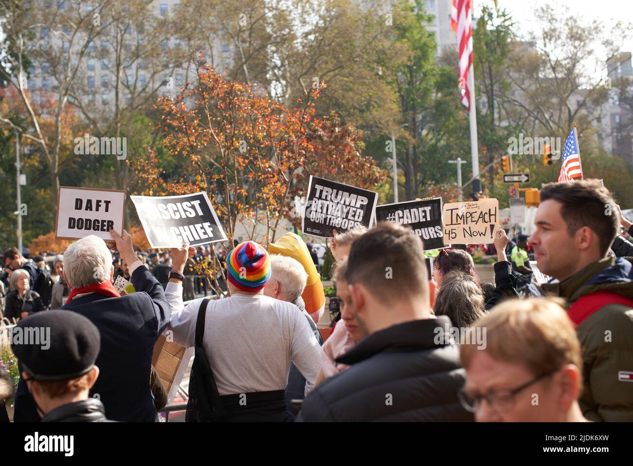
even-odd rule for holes
{"type": "Polygon", "coordinates": [[[444,204],[444,244],[489,244],[499,229],[499,201],[444,204]]]}

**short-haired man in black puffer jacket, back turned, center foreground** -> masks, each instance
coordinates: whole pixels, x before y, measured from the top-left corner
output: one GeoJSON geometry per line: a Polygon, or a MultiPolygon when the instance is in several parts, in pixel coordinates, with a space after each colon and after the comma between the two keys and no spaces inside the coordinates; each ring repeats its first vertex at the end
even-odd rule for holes
{"type": "Polygon", "coordinates": [[[457,397],[465,372],[446,334],[451,321],[430,318],[423,244],[415,232],[381,222],[353,242],[344,277],[367,336],[336,359],[350,367],[306,397],[299,419],[473,420],[457,397]]]}

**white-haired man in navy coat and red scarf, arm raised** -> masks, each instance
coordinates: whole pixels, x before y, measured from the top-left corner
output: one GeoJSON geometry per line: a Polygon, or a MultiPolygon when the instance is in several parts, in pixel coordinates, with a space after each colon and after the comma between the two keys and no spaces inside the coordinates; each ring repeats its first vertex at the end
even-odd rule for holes
{"type": "MultiPolygon", "coordinates": [[[[130,234],[125,230],[123,236],[115,230],[110,230],[110,234],[123,260],[130,265],[136,293],[120,296],[116,291],[111,281],[114,267],[110,249],[103,239],[92,235],[66,249],[62,276],[71,291],[61,308],[84,315],[99,329],[101,349],[96,365],[101,375],[90,396],[103,402],[108,419],[155,422],[158,413],[149,387],[151,358],[154,343],[170,320],[171,309],[163,287],[136,257],[130,234]]],[[[187,249],[172,249],[172,254],[177,253],[187,255],[187,249]]],[[[39,418],[34,406],[33,412],[24,412],[29,404],[32,398],[20,381],[15,404],[19,419],[39,418]]]]}

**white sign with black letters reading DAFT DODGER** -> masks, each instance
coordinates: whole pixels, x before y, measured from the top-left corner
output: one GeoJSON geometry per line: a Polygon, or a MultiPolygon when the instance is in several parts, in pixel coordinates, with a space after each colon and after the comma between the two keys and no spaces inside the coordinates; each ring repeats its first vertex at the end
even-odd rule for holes
{"type": "Polygon", "coordinates": [[[56,239],[96,235],[114,242],[110,230],[123,233],[125,191],[60,186],[57,194],[56,239]]]}

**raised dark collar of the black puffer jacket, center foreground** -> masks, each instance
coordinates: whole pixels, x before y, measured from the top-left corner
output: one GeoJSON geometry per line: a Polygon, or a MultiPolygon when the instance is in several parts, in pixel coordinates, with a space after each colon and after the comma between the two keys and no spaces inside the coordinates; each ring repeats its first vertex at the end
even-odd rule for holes
{"type": "Polygon", "coordinates": [[[448,327],[451,327],[451,319],[445,315],[392,325],[366,336],[347,353],[337,358],[336,362],[351,365],[385,351],[437,348],[449,344],[449,336],[441,337],[445,333],[444,329],[448,327]],[[435,341],[444,343],[438,345],[435,341]]]}

